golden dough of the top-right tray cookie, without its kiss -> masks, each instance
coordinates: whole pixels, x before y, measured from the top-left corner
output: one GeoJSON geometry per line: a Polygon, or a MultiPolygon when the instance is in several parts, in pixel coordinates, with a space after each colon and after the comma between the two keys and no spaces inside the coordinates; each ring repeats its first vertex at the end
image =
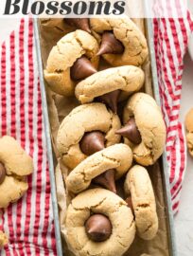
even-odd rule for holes
{"type": "Polygon", "coordinates": [[[125,50],[122,54],[104,54],[103,58],[113,66],[141,65],[148,57],[147,40],[141,30],[128,17],[90,19],[92,30],[98,34],[113,31],[125,50]]]}

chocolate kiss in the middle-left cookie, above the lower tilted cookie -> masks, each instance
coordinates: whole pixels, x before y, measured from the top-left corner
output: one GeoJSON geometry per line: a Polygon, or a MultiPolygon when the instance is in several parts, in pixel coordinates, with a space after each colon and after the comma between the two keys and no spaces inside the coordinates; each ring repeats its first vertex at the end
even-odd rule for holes
{"type": "Polygon", "coordinates": [[[103,150],[105,137],[101,132],[86,133],[79,142],[80,150],[85,155],[93,155],[103,150]]]}

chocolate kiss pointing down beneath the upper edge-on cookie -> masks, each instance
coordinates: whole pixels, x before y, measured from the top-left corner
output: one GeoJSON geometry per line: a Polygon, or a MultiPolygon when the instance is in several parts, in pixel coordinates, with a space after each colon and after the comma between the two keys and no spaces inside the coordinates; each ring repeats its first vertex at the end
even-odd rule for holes
{"type": "Polygon", "coordinates": [[[111,110],[116,113],[117,112],[117,101],[118,101],[118,97],[120,95],[120,90],[115,90],[113,92],[110,93],[106,93],[100,97],[98,97],[98,101],[102,101],[105,104],[107,104],[111,110]]]}

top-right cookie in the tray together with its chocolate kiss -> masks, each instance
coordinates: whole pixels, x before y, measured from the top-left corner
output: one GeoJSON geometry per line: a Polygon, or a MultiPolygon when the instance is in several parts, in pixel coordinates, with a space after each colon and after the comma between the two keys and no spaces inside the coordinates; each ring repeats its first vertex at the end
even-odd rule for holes
{"type": "Polygon", "coordinates": [[[113,66],[141,65],[148,57],[144,34],[128,17],[90,19],[92,31],[101,36],[97,55],[113,66]]]}

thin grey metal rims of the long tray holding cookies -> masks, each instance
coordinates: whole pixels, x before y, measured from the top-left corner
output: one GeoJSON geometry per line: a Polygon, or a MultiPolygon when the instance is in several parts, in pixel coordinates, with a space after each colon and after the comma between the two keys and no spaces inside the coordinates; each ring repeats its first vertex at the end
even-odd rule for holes
{"type": "MultiPolygon", "coordinates": [[[[150,58],[150,64],[151,64],[153,94],[154,94],[155,100],[160,105],[160,95],[159,95],[159,87],[158,87],[158,81],[157,81],[157,70],[156,70],[154,43],[153,43],[152,20],[146,19],[145,24],[146,24],[146,33],[148,35],[148,43],[149,43],[149,58],[150,58]]],[[[51,145],[50,128],[49,128],[50,125],[49,125],[49,118],[48,118],[48,112],[47,112],[46,94],[44,89],[44,72],[43,72],[43,63],[42,63],[42,57],[41,57],[40,31],[39,31],[38,19],[34,19],[34,31],[35,31],[35,43],[36,43],[36,51],[37,51],[37,60],[39,64],[39,74],[40,74],[40,83],[41,83],[41,92],[42,92],[42,101],[43,101],[44,127],[45,127],[45,136],[46,136],[46,144],[47,144],[47,156],[49,161],[49,174],[50,174],[51,193],[52,193],[52,206],[53,206],[53,213],[54,213],[54,220],[55,220],[57,251],[58,251],[58,255],[61,256],[63,254],[62,254],[62,248],[61,248],[59,210],[58,210],[57,196],[56,196],[55,172],[54,172],[52,145],[51,145]]],[[[172,207],[171,207],[169,179],[167,174],[166,153],[164,153],[162,156],[162,171],[163,171],[162,172],[163,186],[165,190],[169,255],[176,256],[177,251],[175,246],[173,213],[172,213],[172,207]]]]}

